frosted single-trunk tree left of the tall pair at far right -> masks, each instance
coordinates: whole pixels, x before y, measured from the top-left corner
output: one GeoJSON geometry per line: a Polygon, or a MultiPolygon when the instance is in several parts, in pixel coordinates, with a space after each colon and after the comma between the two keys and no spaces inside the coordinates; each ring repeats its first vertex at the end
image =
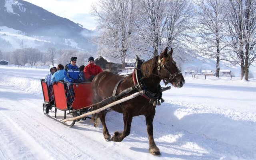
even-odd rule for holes
{"type": "Polygon", "coordinates": [[[197,33],[200,55],[216,59],[216,77],[220,77],[220,60],[224,44],[224,0],[197,0],[197,33]]]}

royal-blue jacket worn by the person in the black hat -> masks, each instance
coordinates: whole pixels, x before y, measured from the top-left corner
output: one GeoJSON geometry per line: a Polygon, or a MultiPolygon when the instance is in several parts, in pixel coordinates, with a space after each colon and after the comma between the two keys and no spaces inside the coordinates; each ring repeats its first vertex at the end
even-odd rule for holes
{"type": "Polygon", "coordinates": [[[68,64],[64,70],[64,80],[65,82],[74,82],[74,80],[80,80],[82,82],[84,78],[78,66],[72,66],[71,64],[68,64]]]}

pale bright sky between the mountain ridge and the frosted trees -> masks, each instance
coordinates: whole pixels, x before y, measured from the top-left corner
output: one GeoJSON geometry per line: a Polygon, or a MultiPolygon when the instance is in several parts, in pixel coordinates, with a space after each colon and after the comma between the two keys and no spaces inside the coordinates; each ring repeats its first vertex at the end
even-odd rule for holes
{"type": "Polygon", "coordinates": [[[90,6],[98,0],[25,0],[40,6],[57,16],[68,18],[75,23],[82,24],[84,28],[96,28],[95,17],[90,15],[90,6]]]}

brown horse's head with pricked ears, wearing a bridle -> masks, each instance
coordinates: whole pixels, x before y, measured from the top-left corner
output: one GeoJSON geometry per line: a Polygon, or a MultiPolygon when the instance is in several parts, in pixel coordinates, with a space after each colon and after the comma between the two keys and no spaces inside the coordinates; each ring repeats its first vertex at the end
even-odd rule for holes
{"type": "Polygon", "coordinates": [[[178,69],[176,62],[172,58],[172,48],[168,52],[168,47],[158,56],[157,72],[165,84],[171,83],[174,87],[182,87],[185,84],[182,72],[178,69]]]}

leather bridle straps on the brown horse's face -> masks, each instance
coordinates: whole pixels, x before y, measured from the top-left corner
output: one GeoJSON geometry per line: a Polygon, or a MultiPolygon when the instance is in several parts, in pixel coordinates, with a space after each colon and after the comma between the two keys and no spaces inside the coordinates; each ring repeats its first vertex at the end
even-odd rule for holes
{"type": "MultiPolygon", "coordinates": [[[[163,60],[163,59],[162,59],[163,60]]],[[[171,72],[167,69],[167,67],[162,63],[162,60],[160,60],[160,58],[158,59],[158,67],[157,67],[157,73],[159,74],[160,70],[161,70],[161,67],[165,70],[165,72],[167,74],[170,74],[170,78],[164,78],[164,77],[161,77],[164,81],[164,84],[168,84],[170,81],[176,81],[174,78],[176,76],[179,76],[179,75],[182,75],[182,72],[180,72],[179,68],[177,67],[178,69],[178,72],[175,72],[174,74],[171,74],[171,72]]]]}

